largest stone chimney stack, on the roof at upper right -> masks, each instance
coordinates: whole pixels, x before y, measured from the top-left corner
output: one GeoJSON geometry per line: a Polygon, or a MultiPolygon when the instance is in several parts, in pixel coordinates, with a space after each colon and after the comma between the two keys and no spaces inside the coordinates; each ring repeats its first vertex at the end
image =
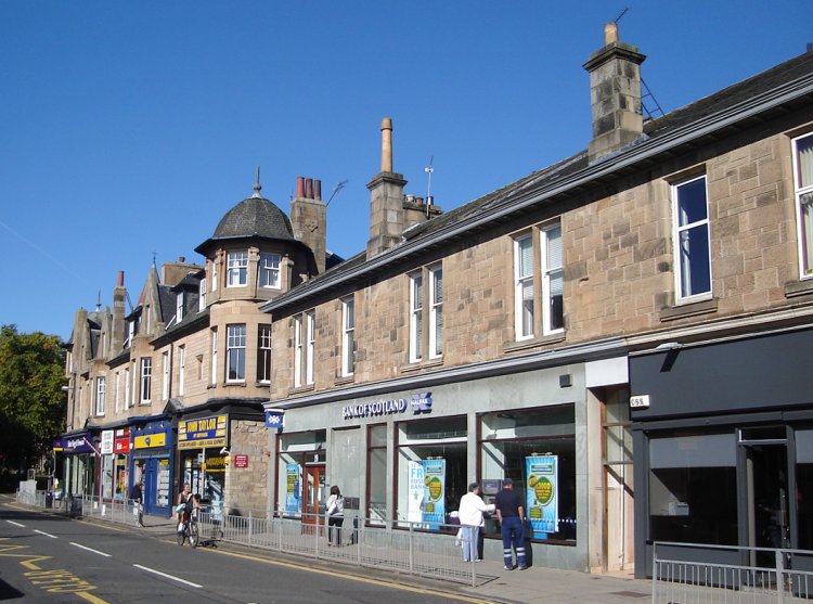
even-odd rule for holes
{"type": "Polygon", "coordinates": [[[644,131],[641,64],[645,59],[637,47],[619,40],[616,23],[604,27],[604,48],[584,64],[593,114],[591,163],[630,144],[644,131]]]}

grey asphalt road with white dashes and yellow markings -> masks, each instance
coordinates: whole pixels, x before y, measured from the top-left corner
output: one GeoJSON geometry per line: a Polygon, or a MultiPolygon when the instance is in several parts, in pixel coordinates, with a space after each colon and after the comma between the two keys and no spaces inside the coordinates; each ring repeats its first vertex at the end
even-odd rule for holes
{"type": "Polygon", "coordinates": [[[181,548],[127,528],[0,505],[0,601],[483,604],[351,573],[225,548],[181,548]]]}

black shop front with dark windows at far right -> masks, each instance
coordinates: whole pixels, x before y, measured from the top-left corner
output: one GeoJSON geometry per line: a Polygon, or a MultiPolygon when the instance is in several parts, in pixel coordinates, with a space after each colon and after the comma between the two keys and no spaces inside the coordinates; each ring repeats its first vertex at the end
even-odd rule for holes
{"type": "Polygon", "coordinates": [[[813,549],[811,347],[790,330],[631,357],[641,577],[656,541],[746,565],[773,554],[705,545],[813,549]]]}

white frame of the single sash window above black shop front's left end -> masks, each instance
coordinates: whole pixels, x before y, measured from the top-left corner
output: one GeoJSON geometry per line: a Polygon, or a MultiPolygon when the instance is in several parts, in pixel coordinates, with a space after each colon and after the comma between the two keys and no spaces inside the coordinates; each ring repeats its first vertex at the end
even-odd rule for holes
{"type": "MultiPolygon", "coordinates": [[[[676,304],[689,304],[694,301],[707,300],[712,296],[713,278],[711,272],[711,224],[709,222],[709,190],[708,180],[706,175],[689,178],[680,182],[675,182],[671,185],[672,190],[672,248],[674,258],[674,297],[676,304]],[[680,216],[680,193],[682,188],[693,184],[695,182],[702,181],[704,194],[706,195],[706,217],[700,220],[687,222],[681,224],[682,218],[680,216]],[[706,246],[708,249],[708,256],[706,258],[707,269],[709,272],[709,287],[705,291],[688,292],[684,294],[684,287],[691,288],[692,279],[692,265],[685,264],[683,260],[689,253],[682,245],[682,240],[688,236],[688,233],[696,231],[697,229],[705,229],[706,231],[706,246]]],[[[688,262],[691,262],[688,258],[688,262]]],[[[701,261],[701,260],[700,260],[701,261]]]]}

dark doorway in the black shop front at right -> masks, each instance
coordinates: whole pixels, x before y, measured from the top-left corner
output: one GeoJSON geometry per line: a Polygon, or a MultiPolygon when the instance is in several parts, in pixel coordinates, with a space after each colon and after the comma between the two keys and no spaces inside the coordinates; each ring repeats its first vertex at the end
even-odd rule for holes
{"type": "MultiPolygon", "coordinates": [[[[785,444],[746,447],[748,545],[789,548],[788,452],[785,444]]],[[[751,555],[751,564],[774,565],[773,552],[751,555]]]]}

